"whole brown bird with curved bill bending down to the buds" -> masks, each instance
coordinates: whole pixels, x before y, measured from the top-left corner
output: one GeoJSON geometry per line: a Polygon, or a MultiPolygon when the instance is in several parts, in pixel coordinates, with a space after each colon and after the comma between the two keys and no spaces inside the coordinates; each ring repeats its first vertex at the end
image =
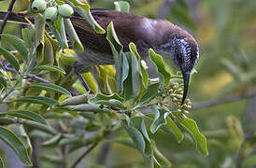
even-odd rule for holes
{"type": "MultiPolygon", "coordinates": [[[[116,10],[91,9],[95,21],[105,30],[110,21],[113,21],[118,38],[124,51],[128,51],[130,42],[134,42],[142,58],[148,56],[149,49],[165,57],[169,57],[178,66],[183,76],[184,103],[192,68],[198,62],[199,48],[191,34],[166,20],[153,20],[130,13],[122,13],[116,10]]],[[[6,12],[0,12],[3,19],[6,12]]],[[[25,15],[11,13],[10,21],[25,21],[25,15]]],[[[106,34],[97,34],[92,27],[78,15],[71,18],[73,26],[85,50],[78,54],[80,67],[88,67],[94,64],[113,64],[112,51],[107,42],[106,34]]]]}

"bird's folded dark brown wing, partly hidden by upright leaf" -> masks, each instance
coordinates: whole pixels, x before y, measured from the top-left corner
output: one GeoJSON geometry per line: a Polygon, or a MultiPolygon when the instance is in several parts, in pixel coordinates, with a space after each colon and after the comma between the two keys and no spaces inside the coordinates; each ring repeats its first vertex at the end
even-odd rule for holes
{"type": "MultiPolygon", "coordinates": [[[[130,42],[134,42],[138,46],[144,45],[141,39],[147,39],[147,37],[143,29],[139,28],[139,26],[142,26],[141,21],[143,21],[143,17],[105,9],[91,9],[91,13],[95,21],[105,30],[109,22],[113,21],[115,31],[125,51],[128,50],[130,42]]],[[[71,21],[85,48],[111,54],[106,34],[100,35],[95,33],[92,27],[78,16],[72,17],[71,21]]]]}

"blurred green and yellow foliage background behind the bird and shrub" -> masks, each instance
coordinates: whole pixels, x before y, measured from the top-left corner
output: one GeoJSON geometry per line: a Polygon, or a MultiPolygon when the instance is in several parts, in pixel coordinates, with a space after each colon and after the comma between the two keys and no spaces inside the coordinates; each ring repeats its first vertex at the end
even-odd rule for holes
{"type": "MultiPolygon", "coordinates": [[[[114,0],[91,0],[91,7],[114,8],[114,0]]],[[[253,0],[129,0],[131,12],[156,19],[164,17],[195,36],[200,46],[197,74],[189,91],[193,105],[190,117],[207,137],[209,156],[194,148],[186,136],[178,145],[174,136],[157,133],[157,145],[173,162],[174,168],[230,168],[256,166],[256,98],[242,99],[255,92],[256,81],[256,2],[253,0]],[[237,95],[238,101],[222,99],[237,95]],[[205,101],[219,101],[204,106],[205,101]],[[220,105],[219,105],[220,104],[220,105]],[[242,163],[243,162],[243,163],[242,163]]],[[[1,9],[7,7],[1,1],[1,9]]],[[[15,10],[26,7],[18,0],[15,10]],[[20,2],[20,3],[19,3],[20,2]],[[21,4],[23,6],[21,6],[21,4]]],[[[8,33],[15,33],[9,26],[8,33]]],[[[16,32],[16,34],[18,34],[16,32]]],[[[97,151],[95,151],[96,154],[97,151]]],[[[135,149],[112,144],[107,167],[140,168],[143,159],[135,149]]],[[[94,161],[92,154],[88,161],[94,161]]]]}

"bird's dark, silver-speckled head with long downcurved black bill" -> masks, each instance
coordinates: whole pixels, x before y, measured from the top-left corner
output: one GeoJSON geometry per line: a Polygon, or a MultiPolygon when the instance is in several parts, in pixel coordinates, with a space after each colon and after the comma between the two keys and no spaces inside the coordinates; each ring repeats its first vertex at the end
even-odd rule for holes
{"type": "Polygon", "coordinates": [[[188,93],[192,68],[199,59],[199,48],[192,35],[183,30],[166,38],[164,45],[161,45],[161,52],[170,57],[182,73],[184,93],[181,105],[183,105],[188,93]]]}

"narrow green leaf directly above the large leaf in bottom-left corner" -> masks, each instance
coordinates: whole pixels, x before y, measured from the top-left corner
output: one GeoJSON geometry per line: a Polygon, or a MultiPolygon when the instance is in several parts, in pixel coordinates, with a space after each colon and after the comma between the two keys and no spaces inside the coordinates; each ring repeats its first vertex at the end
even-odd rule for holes
{"type": "Polygon", "coordinates": [[[17,110],[17,111],[8,111],[5,114],[7,114],[8,116],[14,116],[14,117],[21,118],[21,119],[29,119],[29,120],[39,122],[41,124],[48,125],[46,119],[44,119],[42,116],[36,114],[35,112],[17,110]]]}

